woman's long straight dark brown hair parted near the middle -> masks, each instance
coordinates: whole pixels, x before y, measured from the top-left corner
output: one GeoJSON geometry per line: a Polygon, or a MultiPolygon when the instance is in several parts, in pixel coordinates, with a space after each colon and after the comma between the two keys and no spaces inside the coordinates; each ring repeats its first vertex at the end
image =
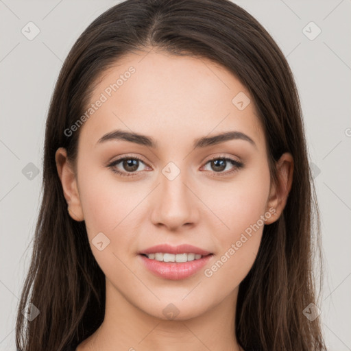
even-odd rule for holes
{"type": "MultiPolygon", "coordinates": [[[[86,110],[101,73],[127,53],[153,47],[209,58],[247,87],[263,123],[273,182],[276,160],[284,152],[293,156],[285,209],[265,226],[256,261],[239,287],[237,340],[243,348],[265,351],[326,350],[319,318],[304,315],[309,304],[317,304],[313,264],[322,253],[298,90],[271,36],[229,0],[124,1],[95,19],[69,52],[47,117],[43,200],[19,303],[16,347],[61,351],[82,342],[104,320],[104,273],[90,250],[84,221],[69,216],[55,152],[64,147],[76,159],[79,130],[71,136],[64,130],[86,110]],[[30,322],[21,313],[29,303],[40,311],[30,322]]],[[[322,260],[318,267],[322,277],[322,260]]]]}

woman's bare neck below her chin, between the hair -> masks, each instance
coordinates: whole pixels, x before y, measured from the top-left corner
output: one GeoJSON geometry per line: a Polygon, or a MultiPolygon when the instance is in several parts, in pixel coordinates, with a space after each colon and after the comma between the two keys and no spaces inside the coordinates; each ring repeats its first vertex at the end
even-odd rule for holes
{"type": "MultiPolygon", "coordinates": [[[[149,315],[131,304],[106,279],[104,322],[77,351],[243,351],[235,336],[238,290],[239,287],[201,315],[167,319],[162,314],[149,315]]],[[[171,316],[169,312],[176,311],[176,304],[165,302],[165,314],[171,316]]]]}

